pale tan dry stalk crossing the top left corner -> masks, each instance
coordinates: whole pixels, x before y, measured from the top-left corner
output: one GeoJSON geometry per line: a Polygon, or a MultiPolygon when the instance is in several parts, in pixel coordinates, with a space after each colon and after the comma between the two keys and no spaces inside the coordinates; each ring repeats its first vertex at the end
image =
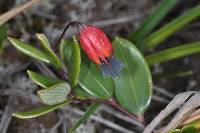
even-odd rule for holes
{"type": "Polygon", "coordinates": [[[15,8],[13,8],[12,10],[2,14],[0,16],[0,25],[6,23],[8,20],[10,20],[11,18],[13,18],[14,16],[16,16],[17,14],[21,13],[22,11],[30,8],[31,6],[35,5],[36,3],[38,3],[40,0],[31,0],[23,5],[17,6],[15,8]]]}

